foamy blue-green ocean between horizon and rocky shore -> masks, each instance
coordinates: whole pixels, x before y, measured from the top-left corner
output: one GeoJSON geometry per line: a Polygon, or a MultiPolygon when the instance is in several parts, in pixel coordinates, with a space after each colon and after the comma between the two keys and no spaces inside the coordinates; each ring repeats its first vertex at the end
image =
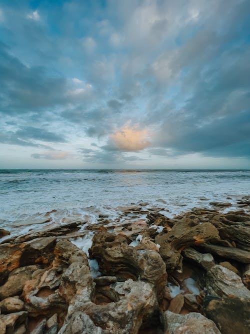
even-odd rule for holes
{"type": "MultiPolygon", "coordinates": [[[[162,208],[174,216],[209,202],[230,202],[250,195],[250,170],[0,170],[0,228],[10,231],[48,211],[63,223],[100,214],[114,219],[117,206],[162,208]]],[[[226,208],[225,210],[229,210],[226,208]]],[[[16,230],[17,231],[17,230],[16,230]]]]}

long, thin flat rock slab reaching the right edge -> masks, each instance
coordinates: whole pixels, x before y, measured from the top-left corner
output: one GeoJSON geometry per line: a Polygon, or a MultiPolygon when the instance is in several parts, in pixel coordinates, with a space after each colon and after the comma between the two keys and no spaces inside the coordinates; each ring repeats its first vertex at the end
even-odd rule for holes
{"type": "Polygon", "coordinates": [[[218,245],[203,244],[199,245],[205,251],[219,255],[227,259],[233,259],[242,263],[250,263],[250,252],[235,247],[224,247],[218,245]]]}

